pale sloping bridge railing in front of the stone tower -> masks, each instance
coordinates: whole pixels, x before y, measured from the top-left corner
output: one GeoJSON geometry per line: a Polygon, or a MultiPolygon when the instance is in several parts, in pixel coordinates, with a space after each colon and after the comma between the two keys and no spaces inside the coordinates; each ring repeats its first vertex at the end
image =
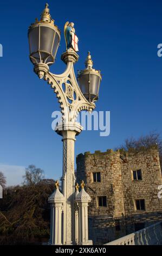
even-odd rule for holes
{"type": "Polygon", "coordinates": [[[162,222],[123,236],[105,245],[162,245],[162,222]]]}

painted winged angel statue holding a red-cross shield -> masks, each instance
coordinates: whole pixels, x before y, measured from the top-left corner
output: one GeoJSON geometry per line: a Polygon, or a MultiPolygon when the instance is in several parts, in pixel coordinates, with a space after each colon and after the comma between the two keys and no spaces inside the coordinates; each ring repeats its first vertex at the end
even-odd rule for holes
{"type": "Polygon", "coordinates": [[[79,41],[76,34],[73,22],[66,22],[64,25],[64,38],[66,40],[67,50],[73,48],[75,52],[78,52],[77,42],[79,41]]]}

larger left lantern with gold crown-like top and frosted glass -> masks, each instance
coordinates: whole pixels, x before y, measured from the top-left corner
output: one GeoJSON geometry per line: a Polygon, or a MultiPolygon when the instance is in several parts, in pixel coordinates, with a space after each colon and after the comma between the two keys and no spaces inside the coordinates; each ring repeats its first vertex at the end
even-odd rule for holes
{"type": "Polygon", "coordinates": [[[48,4],[41,15],[28,29],[30,60],[35,65],[44,63],[51,65],[55,62],[60,44],[60,30],[51,20],[48,4]]]}

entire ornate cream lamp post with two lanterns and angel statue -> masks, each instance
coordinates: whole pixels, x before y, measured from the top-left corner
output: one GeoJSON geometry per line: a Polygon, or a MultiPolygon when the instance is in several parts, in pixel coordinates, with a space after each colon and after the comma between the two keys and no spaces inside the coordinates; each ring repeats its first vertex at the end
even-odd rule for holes
{"type": "Polygon", "coordinates": [[[83,185],[81,192],[76,190],[75,193],[74,143],[75,136],[82,131],[82,126],[76,122],[76,117],[82,110],[92,112],[95,108],[94,101],[98,99],[101,75],[100,71],[92,68],[93,62],[88,53],[86,69],[79,72],[77,77],[79,85],[77,84],[73,65],[79,59],[78,39],[73,22],[66,22],[64,36],[66,52],[62,53],[61,59],[67,66],[63,74],[55,75],[49,72],[49,65],[55,62],[60,43],[60,30],[54,24],[54,20],[51,20],[48,4],[46,4],[41,20],[36,19],[35,23],[29,27],[28,38],[30,60],[34,64],[34,72],[38,77],[44,78],[54,89],[62,113],[62,119],[55,128],[63,141],[62,193],[56,184],[56,192],[49,197],[51,204],[49,244],[87,245],[92,243],[88,240],[87,228],[87,206],[90,197],[83,185]]]}

